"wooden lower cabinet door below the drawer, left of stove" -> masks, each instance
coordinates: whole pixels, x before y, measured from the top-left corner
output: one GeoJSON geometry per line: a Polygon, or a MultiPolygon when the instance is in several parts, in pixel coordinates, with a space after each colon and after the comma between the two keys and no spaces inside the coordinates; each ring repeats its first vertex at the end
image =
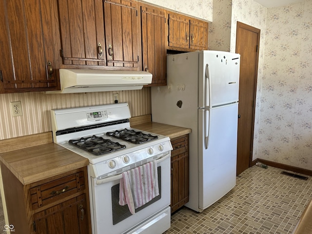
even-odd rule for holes
{"type": "Polygon", "coordinates": [[[36,234],[87,234],[89,214],[82,194],[34,215],[36,234]]]}

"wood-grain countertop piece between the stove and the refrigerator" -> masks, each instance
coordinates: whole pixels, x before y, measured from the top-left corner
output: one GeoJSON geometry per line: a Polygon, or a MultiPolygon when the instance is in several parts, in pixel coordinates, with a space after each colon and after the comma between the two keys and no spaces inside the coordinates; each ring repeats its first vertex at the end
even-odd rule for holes
{"type": "Polygon", "coordinates": [[[182,127],[177,127],[177,126],[163,124],[163,123],[156,123],[156,122],[146,122],[146,123],[133,125],[131,127],[136,128],[138,130],[167,136],[170,139],[173,139],[175,137],[180,137],[180,136],[183,136],[192,132],[192,129],[190,128],[182,128],[182,127]]]}

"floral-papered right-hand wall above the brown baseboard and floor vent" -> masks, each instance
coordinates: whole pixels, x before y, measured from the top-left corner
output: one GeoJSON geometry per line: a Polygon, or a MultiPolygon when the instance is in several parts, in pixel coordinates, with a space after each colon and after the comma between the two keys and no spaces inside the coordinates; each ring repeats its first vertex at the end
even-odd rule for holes
{"type": "Polygon", "coordinates": [[[312,1],[268,9],[257,157],[312,170],[312,1]]]}

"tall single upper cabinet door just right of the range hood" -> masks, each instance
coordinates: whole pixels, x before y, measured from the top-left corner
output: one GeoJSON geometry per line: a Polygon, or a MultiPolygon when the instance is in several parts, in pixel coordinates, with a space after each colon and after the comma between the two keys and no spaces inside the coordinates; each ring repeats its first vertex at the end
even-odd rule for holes
{"type": "Polygon", "coordinates": [[[149,86],[166,85],[166,12],[142,4],[141,23],[143,70],[153,74],[149,86]]]}

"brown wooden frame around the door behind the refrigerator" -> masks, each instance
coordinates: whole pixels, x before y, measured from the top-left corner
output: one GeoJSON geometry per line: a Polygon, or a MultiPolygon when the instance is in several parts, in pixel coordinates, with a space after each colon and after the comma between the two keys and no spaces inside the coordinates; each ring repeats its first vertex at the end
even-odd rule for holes
{"type": "Polygon", "coordinates": [[[254,147],[254,118],[255,118],[255,104],[256,104],[256,94],[257,94],[257,80],[258,80],[258,64],[259,64],[259,44],[260,44],[260,29],[250,26],[248,24],[237,21],[236,24],[236,45],[235,45],[235,53],[239,53],[237,46],[237,35],[240,29],[248,30],[257,34],[257,48],[256,48],[256,60],[255,60],[255,77],[254,77],[254,103],[253,103],[253,113],[252,113],[252,131],[251,131],[251,142],[250,142],[250,155],[249,155],[249,167],[253,166],[253,147],[254,147]]]}

